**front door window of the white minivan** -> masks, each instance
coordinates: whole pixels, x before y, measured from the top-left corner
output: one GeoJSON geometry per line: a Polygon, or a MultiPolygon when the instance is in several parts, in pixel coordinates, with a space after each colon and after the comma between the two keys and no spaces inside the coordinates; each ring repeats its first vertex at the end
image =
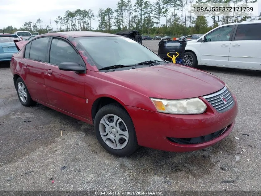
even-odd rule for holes
{"type": "Polygon", "coordinates": [[[206,42],[209,41],[229,41],[230,33],[232,33],[233,26],[226,26],[218,28],[206,36],[206,42]]]}

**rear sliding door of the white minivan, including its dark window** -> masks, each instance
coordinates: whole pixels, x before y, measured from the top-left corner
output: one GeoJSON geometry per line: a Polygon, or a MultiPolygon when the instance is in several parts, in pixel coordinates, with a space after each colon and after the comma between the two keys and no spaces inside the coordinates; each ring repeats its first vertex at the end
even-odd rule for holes
{"type": "Polygon", "coordinates": [[[229,66],[235,68],[260,68],[261,23],[238,24],[230,44],[229,66]]]}

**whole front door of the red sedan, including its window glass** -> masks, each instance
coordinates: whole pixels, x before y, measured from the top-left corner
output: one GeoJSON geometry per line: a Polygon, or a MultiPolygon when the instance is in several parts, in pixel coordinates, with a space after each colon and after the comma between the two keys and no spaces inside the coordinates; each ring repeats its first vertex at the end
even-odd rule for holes
{"type": "Polygon", "coordinates": [[[86,118],[85,74],[60,70],[59,65],[63,62],[76,62],[86,66],[69,42],[53,38],[49,63],[44,66],[48,103],[86,118]]]}

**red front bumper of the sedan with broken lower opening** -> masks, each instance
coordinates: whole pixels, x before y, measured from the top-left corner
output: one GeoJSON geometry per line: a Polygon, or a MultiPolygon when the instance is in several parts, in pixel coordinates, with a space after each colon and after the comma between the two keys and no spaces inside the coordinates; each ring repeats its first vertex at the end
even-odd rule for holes
{"type": "Polygon", "coordinates": [[[224,139],[234,128],[237,99],[233,95],[234,106],[219,113],[208,101],[200,98],[208,107],[204,114],[174,115],[125,106],[133,120],[138,144],[158,150],[185,152],[200,150],[224,139]]]}

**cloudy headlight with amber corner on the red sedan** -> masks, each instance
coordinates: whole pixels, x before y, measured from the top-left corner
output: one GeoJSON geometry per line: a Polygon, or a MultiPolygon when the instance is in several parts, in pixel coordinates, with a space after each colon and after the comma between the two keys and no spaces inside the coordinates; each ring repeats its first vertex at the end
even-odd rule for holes
{"type": "Polygon", "coordinates": [[[199,98],[165,100],[150,98],[158,112],[169,114],[202,114],[206,104],[199,98]]]}

